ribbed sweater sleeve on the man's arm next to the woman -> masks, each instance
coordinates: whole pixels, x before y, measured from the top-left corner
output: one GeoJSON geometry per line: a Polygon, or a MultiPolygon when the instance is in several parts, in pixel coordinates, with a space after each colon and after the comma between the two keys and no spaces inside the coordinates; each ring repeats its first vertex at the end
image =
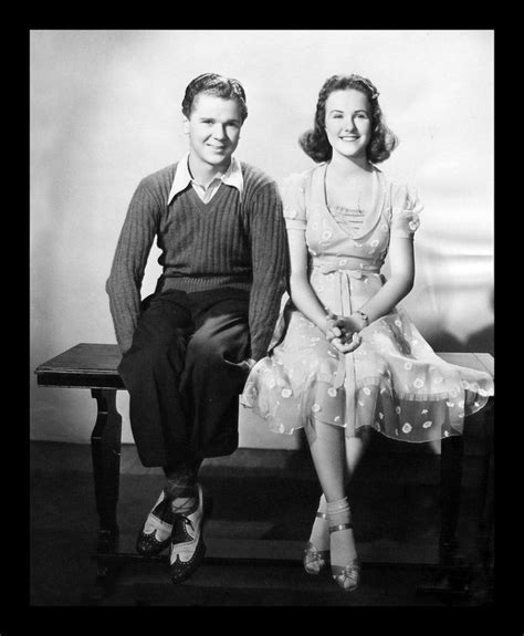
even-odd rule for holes
{"type": "Polygon", "coordinates": [[[280,301],[286,289],[289,250],[282,200],[275,183],[263,186],[250,210],[253,283],[249,325],[251,357],[264,357],[279,317],[280,301]]]}

